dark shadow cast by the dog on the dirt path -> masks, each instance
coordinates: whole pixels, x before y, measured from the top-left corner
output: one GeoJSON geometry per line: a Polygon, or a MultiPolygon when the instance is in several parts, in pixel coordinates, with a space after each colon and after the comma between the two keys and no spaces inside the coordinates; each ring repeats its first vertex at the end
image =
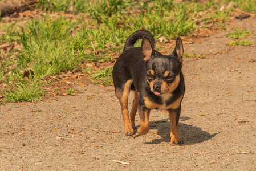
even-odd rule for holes
{"type": "MultiPolygon", "coordinates": [[[[180,117],[180,121],[188,120],[190,117],[180,117]]],[[[159,121],[153,121],[150,123],[151,129],[157,129],[157,134],[160,139],[153,139],[151,142],[144,142],[145,144],[160,144],[162,142],[170,142],[170,122],[169,117],[159,121]]],[[[218,133],[210,134],[203,131],[201,128],[194,127],[193,125],[187,125],[179,123],[179,132],[183,143],[186,145],[197,144],[212,139],[218,133]]]]}

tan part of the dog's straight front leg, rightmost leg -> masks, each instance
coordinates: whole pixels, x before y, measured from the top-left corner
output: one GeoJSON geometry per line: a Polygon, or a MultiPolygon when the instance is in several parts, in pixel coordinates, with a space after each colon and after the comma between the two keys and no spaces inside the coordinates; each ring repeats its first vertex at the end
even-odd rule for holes
{"type": "Polygon", "coordinates": [[[169,110],[170,117],[170,143],[171,144],[182,144],[180,135],[178,134],[178,123],[176,124],[176,112],[169,110]]]}

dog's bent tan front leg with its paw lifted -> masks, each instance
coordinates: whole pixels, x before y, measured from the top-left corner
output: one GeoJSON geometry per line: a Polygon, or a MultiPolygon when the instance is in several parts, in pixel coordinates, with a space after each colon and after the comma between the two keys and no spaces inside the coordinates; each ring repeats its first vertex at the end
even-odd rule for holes
{"type": "Polygon", "coordinates": [[[147,108],[139,107],[139,115],[140,115],[140,127],[137,129],[136,135],[132,136],[133,138],[145,135],[149,131],[149,114],[150,110],[147,108]]]}

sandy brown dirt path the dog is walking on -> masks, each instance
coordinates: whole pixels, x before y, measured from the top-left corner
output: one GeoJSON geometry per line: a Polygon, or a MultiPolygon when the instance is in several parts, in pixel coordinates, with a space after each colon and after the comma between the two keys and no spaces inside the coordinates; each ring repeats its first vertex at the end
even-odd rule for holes
{"type": "MultiPolygon", "coordinates": [[[[229,31],[252,30],[246,39],[254,41],[255,26],[255,16],[226,23],[229,31]]],[[[0,169],[256,170],[256,48],[227,46],[227,32],[184,44],[189,54],[207,55],[184,59],[183,145],[170,144],[166,111],[151,112],[147,135],[125,136],[113,86],[87,81],[72,86],[75,96],[0,104],[0,169]]]]}

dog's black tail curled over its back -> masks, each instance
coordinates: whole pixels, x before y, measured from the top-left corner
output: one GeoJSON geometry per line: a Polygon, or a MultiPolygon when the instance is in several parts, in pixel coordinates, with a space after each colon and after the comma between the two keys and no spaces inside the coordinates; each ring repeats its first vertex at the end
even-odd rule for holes
{"type": "Polygon", "coordinates": [[[147,30],[137,30],[133,32],[132,35],[129,36],[129,38],[126,40],[124,44],[124,50],[128,50],[129,48],[133,48],[134,44],[138,39],[142,39],[143,36],[147,36],[147,38],[150,40],[152,47],[154,48],[155,39],[154,36],[151,34],[151,32],[147,30]]]}

